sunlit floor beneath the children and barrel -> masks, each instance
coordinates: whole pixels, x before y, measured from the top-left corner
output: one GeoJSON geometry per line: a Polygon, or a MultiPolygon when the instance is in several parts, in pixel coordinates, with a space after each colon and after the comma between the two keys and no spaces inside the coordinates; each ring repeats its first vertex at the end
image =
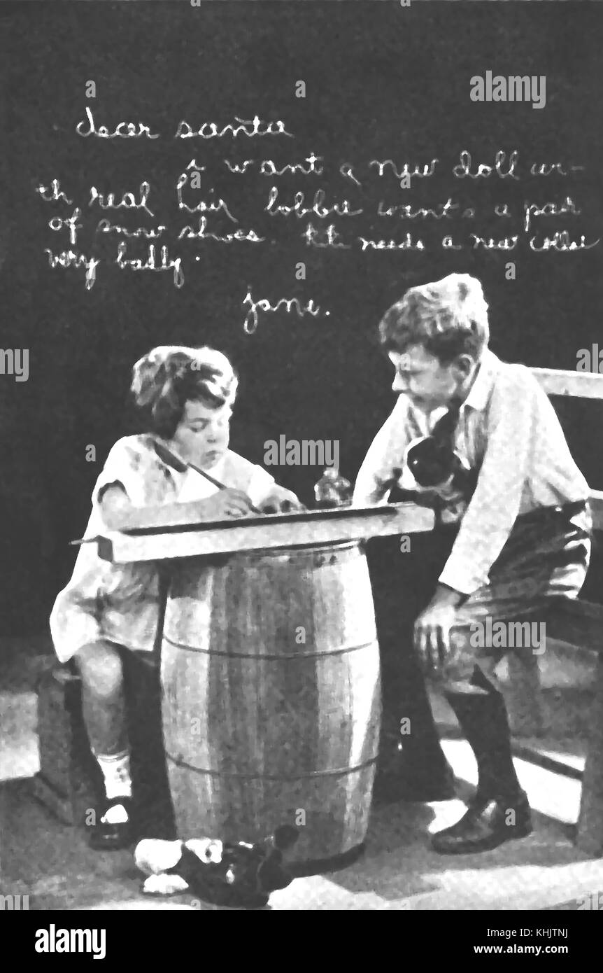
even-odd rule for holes
{"type": "MultiPolygon", "coordinates": [[[[33,910],[211,910],[190,895],[149,899],[131,854],[94,852],[84,828],[65,826],[32,800],[30,778],[38,769],[35,696],[23,672],[39,665],[19,653],[19,677],[3,680],[0,726],[2,894],[29,895],[33,910]]],[[[2,673],[0,673],[0,677],[2,673]]],[[[6,676],[6,673],[5,673],[6,676]]],[[[449,712],[434,700],[437,716],[449,712]]],[[[571,751],[567,740],[547,742],[551,752],[571,751]]],[[[476,781],[475,760],[461,739],[445,739],[446,754],[459,778],[459,795],[476,781]]],[[[570,753],[581,766],[580,746],[570,753]]],[[[429,833],[452,823],[463,811],[460,800],[434,805],[400,802],[375,807],[362,858],[328,875],[296,879],[272,893],[275,910],[514,910],[576,908],[581,896],[603,890],[603,860],[588,859],[572,845],[578,816],[580,781],[556,775],[523,760],[515,765],[535,811],[535,830],[527,839],[479,855],[446,857],[429,848],[429,833]]]]}

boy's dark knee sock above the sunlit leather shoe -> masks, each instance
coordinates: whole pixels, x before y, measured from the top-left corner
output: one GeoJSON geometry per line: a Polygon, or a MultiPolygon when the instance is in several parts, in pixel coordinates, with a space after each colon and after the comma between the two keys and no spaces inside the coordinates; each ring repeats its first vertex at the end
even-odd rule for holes
{"type": "Polygon", "coordinates": [[[487,696],[470,696],[448,691],[448,703],[456,713],[466,739],[478,761],[478,792],[482,797],[510,797],[521,790],[511,752],[511,733],[502,695],[476,667],[474,686],[487,696]]]}

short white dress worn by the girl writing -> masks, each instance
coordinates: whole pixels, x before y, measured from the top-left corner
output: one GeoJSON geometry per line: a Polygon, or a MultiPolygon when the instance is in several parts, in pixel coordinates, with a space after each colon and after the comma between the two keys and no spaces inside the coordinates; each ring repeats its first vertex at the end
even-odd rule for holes
{"type": "MultiPolygon", "coordinates": [[[[211,475],[243,490],[259,506],[274,484],[261,466],[228,450],[211,475]]],[[[92,492],[85,537],[106,533],[98,496],[110,484],[124,486],[135,507],[202,500],[217,490],[195,470],[184,473],[164,463],[150,436],[125,436],[107,456],[92,492]]],[[[83,544],[68,585],[57,595],[51,615],[54,651],[65,663],[83,645],[107,639],[137,651],[153,651],[160,619],[157,564],[113,564],[100,559],[96,544],[83,544]]]]}

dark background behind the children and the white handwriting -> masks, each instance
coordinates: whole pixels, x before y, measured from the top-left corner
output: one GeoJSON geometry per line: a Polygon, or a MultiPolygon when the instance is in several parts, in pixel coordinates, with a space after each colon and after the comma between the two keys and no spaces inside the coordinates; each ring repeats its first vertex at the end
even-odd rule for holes
{"type": "MultiPolygon", "coordinates": [[[[71,571],[89,514],[89,493],[107,450],[132,431],[124,409],[133,362],[158,343],[213,344],[241,374],[231,445],[262,461],[264,443],[286,434],[337,439],[343,473],[353,479],[372,436],[393,406],[391,368],[374,340],[381,313],[410,283],[451,270],[475,273],[491,308],[491,346],[508,360],[573,369],[578,349],[599,340],[603,241],[577,253],[536,254],[520,233],[524,200],[574,199],[580,217],[537,220],[535,232],[568,230],[589,241],[603,236],[603,10],[592,3],[255,2],[4,3],[0,5],[0,300],[2,347],[29,349],[29,379],[0,376],[3,576],[6,631],[43,626],[53,596],[71,571]],[[546,75],[547,102],[471,101],[470,78],[546,75]],[[87,99],[88,80],[96,83],[87,99]],[[306,97],[295,97],[303,80],[306,97]],[[143,121],[161,138],[82,138],[75,126],[89,106],[112,129],[143,121]],[[181,120],[224,126],[235,116],[281,120],[295,138],[266,136],[177,139],[181,120]],[[457,179],[459,153],[493,164],[497,151],[519,153],[519,182],[493,175],[457,179]],[[313,151],[324,175],[229,175],[231,161],[303,162],[313,151]],[[265,244],[176,240],[196,217],[177,211],[175,184],[192,159],[206,166],[203,189],[185,191],[191,205],[214,187],[239,225],[265,244]],[[400,164],[440,160],[436,175],[401,189],[379,179],[371,160],[400,164]],[[339,173],[351,162],[363,189],[339,173]],[[532,162],[580,164],[567,178],[526,175],[532,162]],[[58,179],[73,206],[36,192],[58,179]],[[139,210],[98,211],[89,188],[137,193],[148,181],[156,219],[139,210]],[[283,201],[316,189],[327,204],[347,198],[359,217],[308,218],[335,223],[347,238],[421,237],[423,253],[317,249],[301,238],[308,219],[270,217],[272,185],[283,201]],[[453,198],[475,220],[408,221],[375,215],[387,204],[435,206],[453,198]],[[509,202],[514,218],[491,216],[509,202]],[[84,211],[78,249],[103,258],[86,290],[81,270],[52,270],[45,248],[68,249],[53,216],[84,211]],[[170,256],[183,258],[186,282],[170,272],[119,270],[118,238],[94,234],[97,221],[134,229],[162,223],[170,256]],[[444,225],[445,224],[445,225],[444,225]],[[509,228],[507,227],[509,224],[509,228]],[[520,234],[513,254],[473,249],[471,232],[520,234]],[[444,234],[465,245],[444,252],[444,234]],[[201,261],[195,264],[195,254],[201,261]],[[514,260],[516,280],[505,279],[514,260]],[[296,280],[298,261],[306,279],[296,280]],[[263,314],[255,335],[243,330],[242,301],[310,298],[330,315],[263,314]],[[86,461],[95,445],[97,462],[86,461]]],[[[257,166],[256,166],[257,169],[257,166]]],[[[475,171],[475,164],[474,164],[475,171]]],[[[231,230],[213,216],[208,229],[231,230]]],[[[128,241],[128,256],[148,243],[128,241]]],[[[158,247],[159,249],[159,247],[158,247]]],[[[595,402],[558,402],[576,458],[592,486],[603,486],[599,450],[602,410],[595,402]]],[[[311,495],[320,470],[271,469],[284,485],[311,495]]]]}

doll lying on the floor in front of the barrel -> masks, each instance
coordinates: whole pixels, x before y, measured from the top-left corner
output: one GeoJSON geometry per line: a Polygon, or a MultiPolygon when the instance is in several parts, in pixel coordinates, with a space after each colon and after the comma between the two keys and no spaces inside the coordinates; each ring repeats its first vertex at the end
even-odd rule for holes
{"type": "Polygon", "coordinates": [[[255,845],[209,838],[187,842],[146,838],[135,847],[134,861],[149,876],[142,886],[147,895],[192,891],[213,905],[260,909],[267,905],[270,892],[293,881],[284,867],[283,852],[298,837],[296,828],[283,825],[255,845]]]}

